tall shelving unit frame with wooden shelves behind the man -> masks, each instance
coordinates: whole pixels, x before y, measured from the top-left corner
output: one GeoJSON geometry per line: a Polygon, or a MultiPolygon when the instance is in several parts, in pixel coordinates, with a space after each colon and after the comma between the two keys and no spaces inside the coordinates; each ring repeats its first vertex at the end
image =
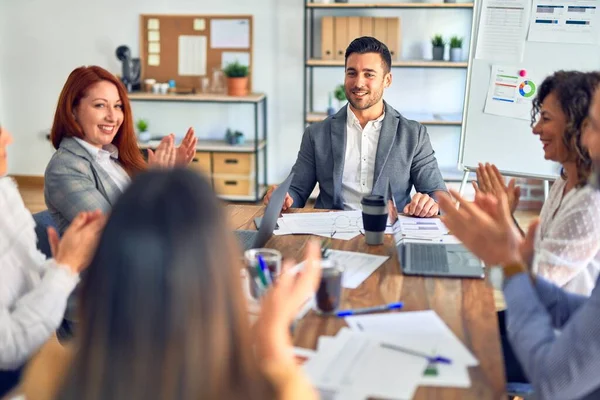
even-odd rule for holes
{"type": "MultiPolygon", "coordinates": [[[[314,3],[304,0],[304,122],[310,124],[327,117],[325,113],[315,112],[313,108],[313,83],[315,69],[343,67],[344,60],[323,60],[315,56],[314,28],[315,13],[320,11],[357,9],[466,9],[472,10],[473,3],[314,3]]],[[[392,68],[460,68],[466,69],[468,63],[428,60],[392,60],[392,68]]],[[[427,120],[419,121],[424,125],[460,126],[461,121],[427,120]]]]}

